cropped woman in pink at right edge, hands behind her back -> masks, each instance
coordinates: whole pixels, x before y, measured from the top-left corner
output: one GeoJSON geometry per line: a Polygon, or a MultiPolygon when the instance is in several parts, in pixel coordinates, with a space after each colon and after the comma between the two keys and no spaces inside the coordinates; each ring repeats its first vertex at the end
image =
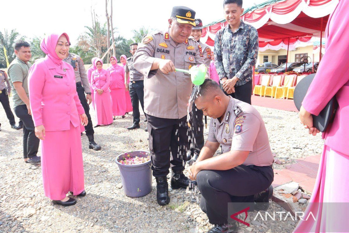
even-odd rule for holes
{"type": "Polygon", "coordinates": [[[311,114],[318,115],[333,96],[339,103],[333,123],[322,134],[326,140],[314,190],[304,220],[294,232],[348,232],[349,66],[341,62],[349,52],[348,11],[348,0],[340,0],[328,19],[326,53],[299,112],[300,121],[315,136],[319,131],[313,127],[311,114]],[[313,217],[305,220],[310,212],[316,221],[313,217]]]}

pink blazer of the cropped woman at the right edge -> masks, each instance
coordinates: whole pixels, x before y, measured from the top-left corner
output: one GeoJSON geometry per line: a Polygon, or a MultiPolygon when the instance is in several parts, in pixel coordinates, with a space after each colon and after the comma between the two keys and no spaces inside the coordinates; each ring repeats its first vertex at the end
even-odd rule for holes
{"type": "Polygon", "coordinates": [[[325,32],[326,53],[303,100],[303,107],[311,114],[318,115],[336,95],[339,109],[333,124],[322,137],[326,138],[326,145],[346,155],[349,155],[349,66],[343,61],[348,59],[349,53],[348,12],[348,1],[340,0],[329,17],[325,32]]]}

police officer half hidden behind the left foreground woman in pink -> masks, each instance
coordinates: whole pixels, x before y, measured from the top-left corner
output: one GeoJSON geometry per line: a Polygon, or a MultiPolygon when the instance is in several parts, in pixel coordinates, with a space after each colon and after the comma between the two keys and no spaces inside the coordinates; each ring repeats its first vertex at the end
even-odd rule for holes
{"type": "MultiPolygon", "coordinates": [[[[70,47],[70,43],[69,43],[70,47]]],[[[95,151],[101,150],[101,146],[95,143],[91,115],[90,115],[90,103],[92,102],[91,89],[89,81],[87,79],[86,69],[84,67],[84,62],[79,55],[74,53],[67,53],[67,57],[63,59],[66,63],[70,64],[74,68],[75,81],[76,81],[76,92],[79,95],[79,99],[82,107],[85,110],[85,114],[88,118],[88,124],[85,126],[86,136],[89,140],[89,148],[95,151]],[[85,96],[86,93],[86,96],[85,96]],[[88,101],[88,102],[87,102],[88,101]]]]}

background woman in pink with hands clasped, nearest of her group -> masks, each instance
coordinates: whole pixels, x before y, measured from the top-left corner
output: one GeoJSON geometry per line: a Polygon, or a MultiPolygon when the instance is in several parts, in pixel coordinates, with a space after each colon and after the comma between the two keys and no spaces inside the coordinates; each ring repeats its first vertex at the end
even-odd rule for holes
{"type": "Polygon", "coordinates": [[[91,74],[91,85],[95,96],[95,111],[97,126],[110,125],[113,123],[113,111],[110,99],[110,75],[102,68],[103,61],[99,58],[94,63],[97,70],[91,74]]]}

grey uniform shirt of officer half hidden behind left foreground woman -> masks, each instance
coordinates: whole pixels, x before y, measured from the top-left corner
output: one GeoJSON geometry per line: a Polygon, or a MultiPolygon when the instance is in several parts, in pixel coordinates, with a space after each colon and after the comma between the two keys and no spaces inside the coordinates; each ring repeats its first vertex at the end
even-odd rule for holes
{"type": "Polygon", "coordinates": [[[75,82],[82,82],[85,93],[90,93],[90,84],[82,58],[74,53],[69,53],[68,57],[63,59],[63,61],[74,67],[75,82]]]}

